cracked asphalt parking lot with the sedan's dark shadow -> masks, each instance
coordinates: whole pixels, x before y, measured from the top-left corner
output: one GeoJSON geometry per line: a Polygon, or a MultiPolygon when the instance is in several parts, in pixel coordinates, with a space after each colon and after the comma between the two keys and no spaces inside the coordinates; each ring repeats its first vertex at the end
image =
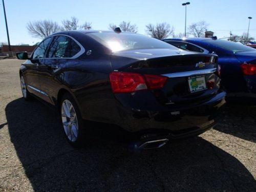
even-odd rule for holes
{"type": "Polygon", "coordinates": [[[54,110],[22,98],[20,63],[0,60],[0,191],[256,191],[255,106],[227,106],[215,129],[157,150],[102,132],[77,150],[54,110]]]}

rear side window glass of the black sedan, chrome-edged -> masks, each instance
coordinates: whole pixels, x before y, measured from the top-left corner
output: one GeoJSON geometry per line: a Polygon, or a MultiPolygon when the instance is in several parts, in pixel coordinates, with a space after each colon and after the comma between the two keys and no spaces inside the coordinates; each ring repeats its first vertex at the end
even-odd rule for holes
{"type": "Polygon", "coordinates": [[[81,50],[68,36],[55,36],[49,49],[49,58],[71,58],[81,50]]]}

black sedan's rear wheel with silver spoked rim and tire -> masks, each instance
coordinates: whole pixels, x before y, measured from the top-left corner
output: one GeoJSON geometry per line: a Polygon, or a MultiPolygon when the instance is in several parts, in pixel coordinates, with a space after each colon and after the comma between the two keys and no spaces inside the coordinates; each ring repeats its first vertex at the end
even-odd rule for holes
{"type": "MultiPolygon", "coordinates": [[[[65,104],[64,103],[64,104],[65,104]]],[[[68,142],[76,148],[80,148],[84,145],[85,141],[86,141],[86,133],[85,133],[85,129],[84,129],[84,125],[83,125],[83,120],[81,117],[81,113],[79,111],[79,108],[77,106],[77,103],[75,101],[75,99],[72,97],[71,94],[66,93],[62,96],[61,101],[60,101],[60,105],[59,105],[59,114],[60,114],[60,120],[61,120],[61,124],[62,124],[62,129],[64,131],[65,137],[68,140],[68,142]],[[68,101],[72,104],[73,108],[74,108],[74,112],[76,114],[76,120],[77,120],[77,125],[75,126],[75,118],[73,118],[73,123],[72,123],[72,116],[74,115],[70,115],[71,117],[63,117],[63,103],[65,102],[66,104],[68,103],[68,101]],[[66,118],[66,119],[65,119],[66,118]],[[66,121],[66,122],[63,122],[66,121]],[[71,122],[71,128],[69,128],[70,126],[66,126],[67,122],[71,122]],[[73,127],[74,125],[74,127],[73,127]],[[77,127],[77,129],[76,129],[77,127]],[[68,129],[70,129],[71,134],[68,134],[68,129]],[[75,137],[75,130],[77,131],[77,136],[75,137]],[[73,134],[73,135],[72,135],[73,134]],[[74,139],[75,138],[75,139],[74,139]]],[[[71,112],[70,112],[71,114],[71,112]]]]}

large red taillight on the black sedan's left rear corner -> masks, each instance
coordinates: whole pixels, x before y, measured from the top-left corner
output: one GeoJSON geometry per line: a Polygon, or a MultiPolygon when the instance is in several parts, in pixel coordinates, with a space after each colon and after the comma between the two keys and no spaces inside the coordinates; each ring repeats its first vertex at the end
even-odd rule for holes
{"type": "Polygon", "coordinates": [[[131,93],[139,90],[153,90],[163,87],[167,77],[114,71],[110,74],[113,93],[131,93]]]}

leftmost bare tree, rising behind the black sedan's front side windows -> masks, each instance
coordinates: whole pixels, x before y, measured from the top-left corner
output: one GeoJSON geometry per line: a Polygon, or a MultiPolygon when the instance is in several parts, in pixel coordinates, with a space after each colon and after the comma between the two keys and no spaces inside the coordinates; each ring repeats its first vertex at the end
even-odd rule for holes
{"type": "Polygon", "coordinates": [[[61,30],[60,26],[52,20],[37,20],[35,22],[29,22],[27,24],[27,29],[33,37],[41,39],[61,30]]]}

